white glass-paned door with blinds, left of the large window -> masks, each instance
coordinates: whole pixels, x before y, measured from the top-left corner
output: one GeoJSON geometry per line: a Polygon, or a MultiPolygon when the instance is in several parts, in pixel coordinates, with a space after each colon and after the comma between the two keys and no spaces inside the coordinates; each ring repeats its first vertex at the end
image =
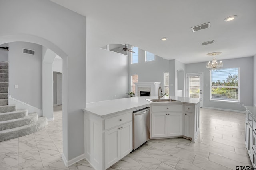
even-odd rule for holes
{"type": "MultiPolygon", "coordinates": [[[[203,98],[203,74],[187,74],[186,96],[190,98],[203,98]]],[[[200,107],[202,107],[200,102],[200,107]]]]}

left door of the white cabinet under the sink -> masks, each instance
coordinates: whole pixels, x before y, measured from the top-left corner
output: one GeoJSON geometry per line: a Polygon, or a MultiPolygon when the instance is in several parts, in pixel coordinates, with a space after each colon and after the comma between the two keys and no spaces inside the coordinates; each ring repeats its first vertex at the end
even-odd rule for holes
{"type": "Polygon", "coordinates": [[[166,131],[166,113],[152,114],[152,137],[165,137],[166,131]]]}

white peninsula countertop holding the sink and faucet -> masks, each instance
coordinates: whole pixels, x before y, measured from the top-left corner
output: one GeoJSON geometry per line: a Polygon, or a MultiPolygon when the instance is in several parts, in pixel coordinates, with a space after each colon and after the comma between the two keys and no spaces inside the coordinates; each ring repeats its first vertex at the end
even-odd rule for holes
{"type": "MultiPolygon", "coordinates": [[[[168,97],[163,97],[168,98],[168,97]]],[[[161,98],[161,99],[163,99],[161,98]]],[[[170,103],[189,103],[197,104],[202,99],[198,98],[185,98],[185,97],[176,97],[171,96],[171,99],[179,100],[180,102],[170,102],[170,103]]],[[[146,99],[157,99],[156,97],[132,97],[132,98],[122,98],[114,100],[104,100],[100,102],[87,103],[86,108],[83,110],[89,113],[93,113],[99,117],[105,117],[108,115],[120,113],[129,109],[134,109],[138,107],[143,107],[150,104],[163,103],[163,102],[149,102],[146,99]]]]}

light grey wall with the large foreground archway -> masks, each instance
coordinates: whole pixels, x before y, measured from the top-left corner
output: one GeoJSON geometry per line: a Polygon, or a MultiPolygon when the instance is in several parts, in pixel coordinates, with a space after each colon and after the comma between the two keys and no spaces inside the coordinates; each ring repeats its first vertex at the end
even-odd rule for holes
{"type": "Polygon", "coordinates": [[[37,43],[63,59],[62,158],[78,160],[84,156],[86,17],[48,0],[1,0],[0,21],[0,44],[37,43]]]}

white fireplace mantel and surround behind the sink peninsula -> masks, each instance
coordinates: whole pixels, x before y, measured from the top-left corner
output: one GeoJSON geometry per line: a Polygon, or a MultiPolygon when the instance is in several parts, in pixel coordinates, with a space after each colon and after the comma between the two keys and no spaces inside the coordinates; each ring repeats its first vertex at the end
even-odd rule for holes
{"type": "Polygon", "coordinates": [[[135,96],[140,96],[140,91],[150,92],[150,96],[158,96],[160,82],[138,82],[135,83],[135,96]]]}

